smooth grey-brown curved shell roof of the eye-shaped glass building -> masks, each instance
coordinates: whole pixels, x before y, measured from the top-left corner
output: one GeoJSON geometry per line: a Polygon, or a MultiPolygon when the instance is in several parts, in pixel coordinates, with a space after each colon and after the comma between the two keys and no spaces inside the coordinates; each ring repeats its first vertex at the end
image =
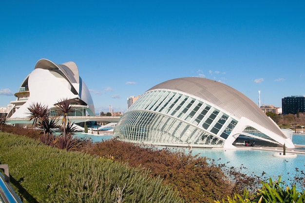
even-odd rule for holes
{"type": "Polygon", "coordinates": [[[279,135],[283,135],[281,129],[274,125],[258,105],[224,83],[205,78],[189,77],[159,83],[148,91],[153,89],[172,89],[186,92],[220,107],[237,119],[246,117],[259,125],[271,128],[270,130],[279,135]]]}

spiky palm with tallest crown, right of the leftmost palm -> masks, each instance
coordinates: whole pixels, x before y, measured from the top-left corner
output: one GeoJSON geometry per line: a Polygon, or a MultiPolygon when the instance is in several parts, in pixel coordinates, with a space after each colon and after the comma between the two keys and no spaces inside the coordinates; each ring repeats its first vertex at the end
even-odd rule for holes
{"type": "Polygon", "coordinates": [[[55,104],[55,111],[56,117],[62,116],[61,124],[63,125],[63,134],[66,136],[66,126],[69,122],[68,115],[69,113],[73,112],[73,105],[70,105],[70,101],[68,99],[63,99],[55,104]]]}

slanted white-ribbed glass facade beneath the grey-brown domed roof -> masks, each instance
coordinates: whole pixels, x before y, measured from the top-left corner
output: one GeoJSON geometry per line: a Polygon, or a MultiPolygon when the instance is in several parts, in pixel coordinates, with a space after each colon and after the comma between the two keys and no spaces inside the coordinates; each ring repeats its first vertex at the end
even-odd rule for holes
{"type": "Polygon", "coordinates": [[[224,144],[228,135],[223,133],[225,136],[218,137],[217,133],[235,126],[234,122],[226,122],[228,115],[219,113],[216,108],[187,95],[168,90],[151,91],[122,116],[114,134],[125,141],[217,147],[224,144]]]}

